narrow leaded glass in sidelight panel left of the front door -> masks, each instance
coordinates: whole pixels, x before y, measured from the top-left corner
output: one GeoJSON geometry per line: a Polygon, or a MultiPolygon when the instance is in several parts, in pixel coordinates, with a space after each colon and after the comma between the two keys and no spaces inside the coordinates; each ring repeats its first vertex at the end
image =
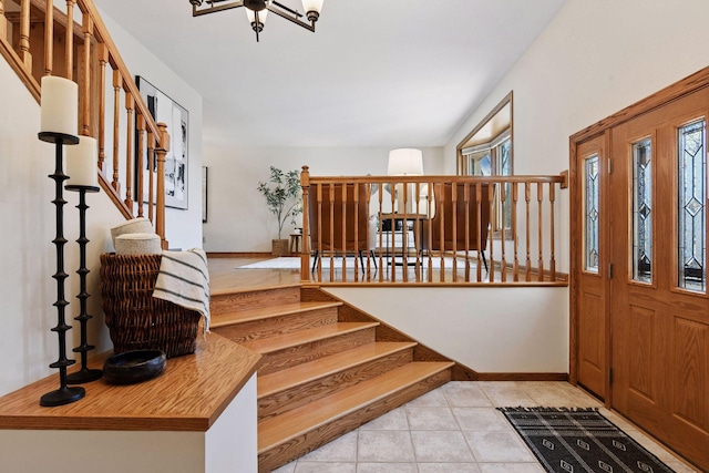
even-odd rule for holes
{"type": "Polygon", "coordinates": [[[600,193],[600,173],[598,155],[586,158],[584,166],[584,214],[586,225],[584,228],[584,267],[587,271],[598,273],[598,198],[600,193]]]}

